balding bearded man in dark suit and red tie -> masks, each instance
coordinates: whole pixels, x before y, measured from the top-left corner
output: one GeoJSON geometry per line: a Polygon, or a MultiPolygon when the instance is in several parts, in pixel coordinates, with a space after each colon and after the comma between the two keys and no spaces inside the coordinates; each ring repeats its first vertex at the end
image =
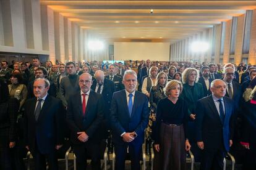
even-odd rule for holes
{"type": "Polygon", "coordinates": [[[92,169],[100,169],[100,124],[103,120],[103,97],[91,88],[92,76],[79,76],[80,91],[70,96],[67,105],[67,124],[70,140],[77,156],[77,169],[86,168],[88,154],[92,158],[92,169]]]}

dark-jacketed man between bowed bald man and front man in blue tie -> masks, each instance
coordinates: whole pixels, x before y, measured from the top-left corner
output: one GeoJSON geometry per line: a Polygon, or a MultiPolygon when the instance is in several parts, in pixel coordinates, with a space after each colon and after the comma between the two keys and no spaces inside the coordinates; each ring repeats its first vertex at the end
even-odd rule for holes
{"type": "Polygon", "coordinates": [[[111,64],[108,67],[109,75],[106,78],[110,79],[114,82],[114,86],[116,87],[116,91],[121,91],[124,89],[124,84],[122,84],[122,75],[116,73],[116,65],[111,64]]]}

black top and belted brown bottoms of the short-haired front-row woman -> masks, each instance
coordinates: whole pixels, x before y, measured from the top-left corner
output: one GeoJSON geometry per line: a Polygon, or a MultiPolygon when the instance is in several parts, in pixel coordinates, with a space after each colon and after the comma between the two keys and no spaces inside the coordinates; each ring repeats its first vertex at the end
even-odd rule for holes
{"type": "Polygon", "coordinates": [[[158,102],[153,139],[160,144],[160,169],[186,169],[187,112],[183,99],[175,104],[168,98],[158,102]]]}

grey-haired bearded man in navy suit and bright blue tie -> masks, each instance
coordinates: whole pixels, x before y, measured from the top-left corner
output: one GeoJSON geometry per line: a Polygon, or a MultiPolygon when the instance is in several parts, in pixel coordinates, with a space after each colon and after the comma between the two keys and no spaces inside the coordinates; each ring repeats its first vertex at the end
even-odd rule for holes
{"type": "Polygon", "coordinates": [[[144,130],[148,125],[148,99],[145,94],[135,91],[137,85],[135,71],[127,70],[122,82],[126,89],[115,92],[111,103],[116,169],[124,169],[128,148],[132,169],[139,170],[144,130]]]}

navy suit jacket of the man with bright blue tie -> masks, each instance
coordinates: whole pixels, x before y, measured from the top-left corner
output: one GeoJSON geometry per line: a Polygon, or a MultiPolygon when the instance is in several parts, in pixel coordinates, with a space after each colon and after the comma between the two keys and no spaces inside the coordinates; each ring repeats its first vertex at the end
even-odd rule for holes
{"type": "Polygon", "coordinates": [[[129,115],[126,91],[115,92],[111,103],[111,127],[113,129],[113,142],[124,145],[123,132],[137,133],[133,144],[142,144],[144,141],[144,130],[148,126],[148,99],[142,92],[135,91],[132,114],[129,115]]]}

